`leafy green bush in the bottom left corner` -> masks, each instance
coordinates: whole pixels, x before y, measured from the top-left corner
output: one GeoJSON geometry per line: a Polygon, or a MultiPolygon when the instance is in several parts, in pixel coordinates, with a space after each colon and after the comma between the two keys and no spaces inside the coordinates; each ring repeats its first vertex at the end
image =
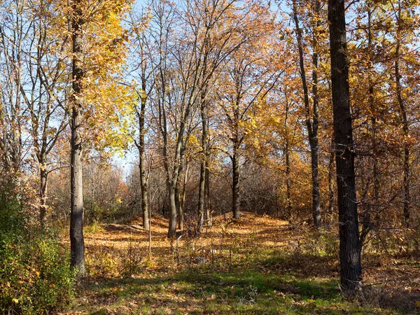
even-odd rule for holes
{"type": "Polygon", "coordinates": [[[69,255],[52,232],[29,225],[23,204],[0,192],[0,314],[50,314],[73,294],[69,255]]]}

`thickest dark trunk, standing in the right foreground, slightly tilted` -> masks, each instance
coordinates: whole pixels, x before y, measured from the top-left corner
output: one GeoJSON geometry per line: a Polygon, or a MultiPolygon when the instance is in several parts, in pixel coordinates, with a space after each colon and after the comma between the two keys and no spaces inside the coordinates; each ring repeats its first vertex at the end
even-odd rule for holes
{"type": "Polygon", "coordinates": [[[337,167],[340,278],[342,289],[346,293],[353,294],[361,285],[362,268],[360,264],[344,0],[328,1],[328,20],[330,22],[332,113],[337,167]]]}

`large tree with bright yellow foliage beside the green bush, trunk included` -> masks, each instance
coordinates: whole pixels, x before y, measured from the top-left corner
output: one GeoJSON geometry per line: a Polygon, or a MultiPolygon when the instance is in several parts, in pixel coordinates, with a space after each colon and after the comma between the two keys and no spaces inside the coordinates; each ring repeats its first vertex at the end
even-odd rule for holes
{"type": "Polygon", "coordinates": [[[109,124],[118,123],[118,114],[127,105],[126,90],[118,80],[127,41],[121,19],[130,3],[94,1],[86,7],[83,1],[73,0],[70,4],[71,266],[83,276],[83,146],[100,150],[125,142],[109,124]]]}

